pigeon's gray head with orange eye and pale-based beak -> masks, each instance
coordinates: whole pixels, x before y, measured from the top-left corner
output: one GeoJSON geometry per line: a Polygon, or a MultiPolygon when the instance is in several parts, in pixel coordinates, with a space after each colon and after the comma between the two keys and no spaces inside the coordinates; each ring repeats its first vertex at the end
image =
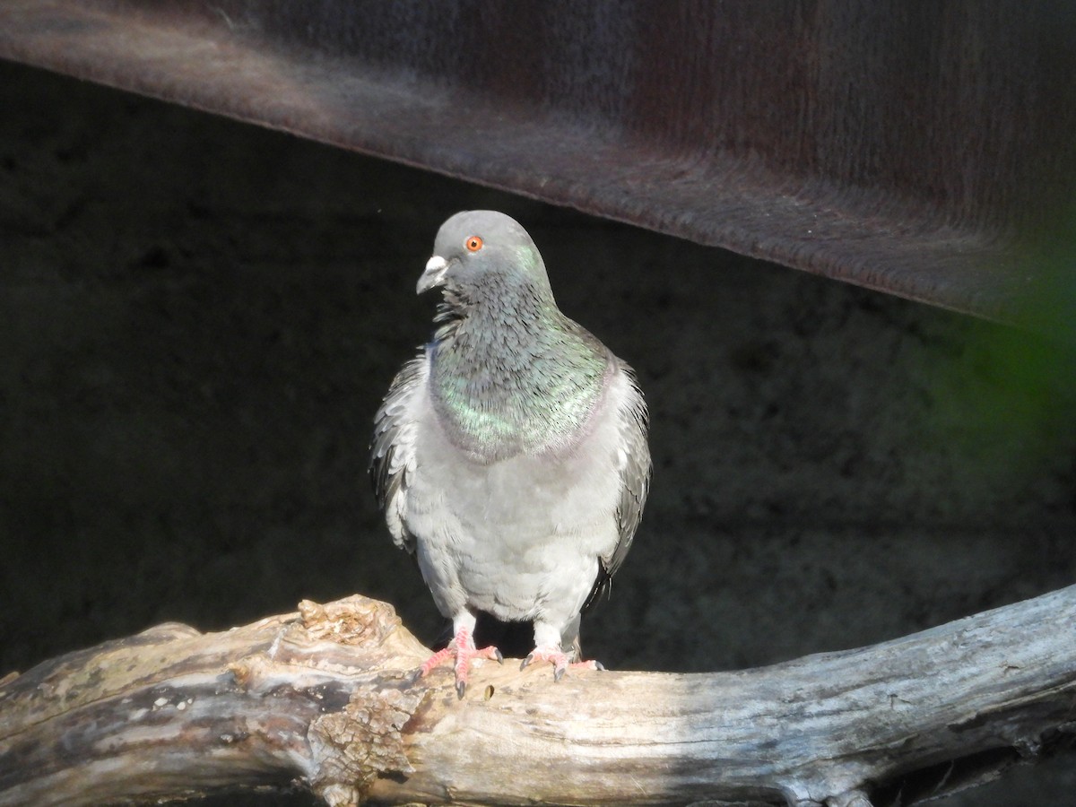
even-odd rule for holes
{"type": "Polygon", "coordinates": [[[514,218],[493,210],[467,210],[441,225],[417,293],[436,286],[453,308],[516,295],[552,301],[535,242],[514,218]]]}

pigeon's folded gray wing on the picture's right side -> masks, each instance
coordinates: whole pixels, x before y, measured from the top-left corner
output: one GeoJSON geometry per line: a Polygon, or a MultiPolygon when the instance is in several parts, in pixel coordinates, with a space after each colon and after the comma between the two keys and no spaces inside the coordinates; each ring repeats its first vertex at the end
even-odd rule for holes
{"type": "Polygon", "coordinates": [[[617,471],[620,475],[620,501],[617,505],[617,526],[620,540],[608,557],[601,558],[601,570],[594,582],[590,596],[583,609],[587,609],[610,587],[612,576],[624,562],[632,539],[642,520],[642,507],[650,492],[650,448],[647,444],[647,431],[650,427],[650,416],[647,402],[639,390],[635,370],[617,359],[620,370],[627,378],[629,392],[621,401],[618,416],[620,417],[621,453],[618,455],[617,471]]]}

